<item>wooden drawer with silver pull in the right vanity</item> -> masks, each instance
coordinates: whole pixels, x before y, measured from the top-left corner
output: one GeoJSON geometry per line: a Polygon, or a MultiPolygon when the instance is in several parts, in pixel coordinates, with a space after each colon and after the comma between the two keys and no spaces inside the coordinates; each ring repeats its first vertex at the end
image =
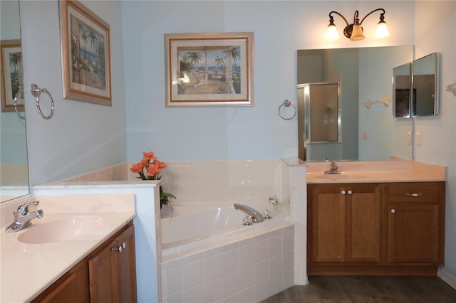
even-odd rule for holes
{"type": "Polygon", "coordinates": [[[388,185],[388,202],[438,203],[441,193],[442,186],[435,182],[388,185]]]}

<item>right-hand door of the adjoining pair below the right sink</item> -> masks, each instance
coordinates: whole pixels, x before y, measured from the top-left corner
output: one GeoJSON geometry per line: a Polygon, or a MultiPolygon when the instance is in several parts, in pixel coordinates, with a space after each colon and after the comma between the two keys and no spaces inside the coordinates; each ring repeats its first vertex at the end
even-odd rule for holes
{"type": "Polygon", "coordinates": [[[346,188],[346,261],[380,261],[380,188],[346,188]]]}

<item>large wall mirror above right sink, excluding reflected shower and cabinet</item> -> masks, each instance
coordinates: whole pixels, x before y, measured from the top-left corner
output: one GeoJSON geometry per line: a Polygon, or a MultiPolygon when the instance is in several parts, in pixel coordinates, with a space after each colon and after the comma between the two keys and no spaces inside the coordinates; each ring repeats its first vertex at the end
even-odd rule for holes
{"type": "MultiPolygon", "coordinates": [[[[340,142],[307,144],[306,161],[413,159],[413,119],[393,119],[392,109],[393,68],[412,62],[413,53],[413,46],[297,51],[298,85],[341,83],[340,142]],[[370,108],[363,106],[366,100],[370,108]]],[[[299,112],[298,125],[304,150],[306,124],[299,112]]]]}

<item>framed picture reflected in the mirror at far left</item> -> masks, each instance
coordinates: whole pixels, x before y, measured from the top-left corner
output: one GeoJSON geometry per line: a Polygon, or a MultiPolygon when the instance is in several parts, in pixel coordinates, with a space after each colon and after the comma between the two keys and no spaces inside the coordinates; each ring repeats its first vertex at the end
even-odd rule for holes
{"type": "Polygon", "coordinates": [[[21,40],[2,40],[0,48],[1,111],[14,112],[15,98],[17,110],[24,111],[21,40]]]}

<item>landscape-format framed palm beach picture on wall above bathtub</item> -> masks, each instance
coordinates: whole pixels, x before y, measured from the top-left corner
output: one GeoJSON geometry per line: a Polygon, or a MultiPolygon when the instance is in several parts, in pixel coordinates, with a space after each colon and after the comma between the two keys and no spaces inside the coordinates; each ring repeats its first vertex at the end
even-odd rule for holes
{"type": "Polygon", "coordinates": [[[254,33],[165,34],[166,107],[254,105],[254,33]]]}

